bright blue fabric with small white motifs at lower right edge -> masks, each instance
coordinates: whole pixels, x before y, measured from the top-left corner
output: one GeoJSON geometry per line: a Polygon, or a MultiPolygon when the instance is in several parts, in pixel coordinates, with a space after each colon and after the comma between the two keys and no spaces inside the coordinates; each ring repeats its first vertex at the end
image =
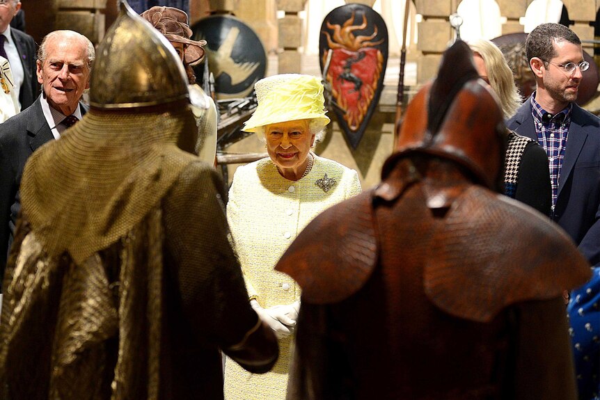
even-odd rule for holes
{"type": "Polygon", "coordinates": [[[580,400],[600,400],[600,268],[590,282],[571,292],[567,306],[571,324],[580,400]]]}

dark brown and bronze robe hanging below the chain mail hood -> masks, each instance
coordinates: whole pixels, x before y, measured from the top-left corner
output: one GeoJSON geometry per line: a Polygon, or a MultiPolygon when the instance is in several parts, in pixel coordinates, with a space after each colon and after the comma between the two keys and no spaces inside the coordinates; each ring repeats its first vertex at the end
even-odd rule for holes
{"type": "Polygon", "coordinates": [[[0,398],[219,399],[220,355],[189,353],[190,337],[220,337],[227,351],[256,323],[224,197],[216,171],[195,161],[141,221],[81,263],[48,255],[23,215],[4,282],[0,398]]]}

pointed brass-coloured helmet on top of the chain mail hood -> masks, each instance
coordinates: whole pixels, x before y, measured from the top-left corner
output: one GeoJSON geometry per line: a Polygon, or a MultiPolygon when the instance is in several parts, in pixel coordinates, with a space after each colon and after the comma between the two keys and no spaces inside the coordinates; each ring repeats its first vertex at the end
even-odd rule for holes
{"type": "Polygon", "coordinates": [[[187,77],[171,43],[122,1],[96,50],[90,106],[129,109],[187,97],[187,77]]]}

